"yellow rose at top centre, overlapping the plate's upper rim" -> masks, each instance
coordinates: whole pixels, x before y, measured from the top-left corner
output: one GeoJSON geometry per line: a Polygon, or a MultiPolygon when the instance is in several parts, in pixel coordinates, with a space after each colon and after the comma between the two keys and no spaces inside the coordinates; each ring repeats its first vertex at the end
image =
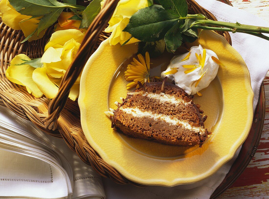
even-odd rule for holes
{"type": "MultiPolygon", "coordinates": [[[[101,2],[103,7],[105,0],[101,2]]],[[[131,35],[129,32],[123,32],[122,30],[129,23],[130,17],[138,10],[148,7],[148,0],[120,0],[111,19],[109,20],[109,26],[105,29],[105,32],[112,32],[109,37],[109,44],[121,45],[127,41],[131,35]]],[[[138,39],[132,38],[127,44],[138,42],[138,39]]]]}

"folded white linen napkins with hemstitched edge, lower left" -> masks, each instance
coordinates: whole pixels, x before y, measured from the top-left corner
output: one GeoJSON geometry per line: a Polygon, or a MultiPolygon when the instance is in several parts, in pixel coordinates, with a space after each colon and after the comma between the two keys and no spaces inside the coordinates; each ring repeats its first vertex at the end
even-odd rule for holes
{"type": "Polygon", "coordinates": [[[0,160],[1,198],[105,198],[101,177],[62,139],[2,106],[0,160]]]}

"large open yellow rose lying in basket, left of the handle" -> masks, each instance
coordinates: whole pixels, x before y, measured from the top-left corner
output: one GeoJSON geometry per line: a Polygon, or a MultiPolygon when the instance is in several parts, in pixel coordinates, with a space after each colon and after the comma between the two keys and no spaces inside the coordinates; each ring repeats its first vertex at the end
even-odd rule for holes
{"type": "MultiPolygon", "coordinates": [[[[26,86],[29,93],[35,97],[43,94],[52,99],[58,93],[62,77],[76,56],[82,42],[84,33],[76,29],[59,30],[51,35],[41,57],[41,68],[34,68],[23,63],[30,60],[26,55],[20,54],[14,57],[6,70],[6,77],[16,83],[26,86]]],[[[69,98],[73,101],[79,96],[80,77],[72,86],[69,98]]]]}

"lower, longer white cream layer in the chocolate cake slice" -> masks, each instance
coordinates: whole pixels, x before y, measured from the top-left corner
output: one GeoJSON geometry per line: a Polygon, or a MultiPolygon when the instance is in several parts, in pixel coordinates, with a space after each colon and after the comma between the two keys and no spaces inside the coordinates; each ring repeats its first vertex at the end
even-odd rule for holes
{"type": "Polygon", "coordinates": [[[204,134],[205,130],[201,127],[195,127],[191,126],[189,122],[184,121],[184,120],[179,120],[176,118],[172,118],[171,116],[168,115],[163,115],[163,114],[153,114],[150,111],[141,111],[139,108],[122,108],[120,107],[119,110],[122,110],[123,112],[127,114],[132,114],[134,117],[150,117],[153,118],[154,120],[163,120],[169,124],[172,125],[178,125],[181,124],[184,128],[194,131],[196,133],[199,133],[200,135],[204,134]]]}

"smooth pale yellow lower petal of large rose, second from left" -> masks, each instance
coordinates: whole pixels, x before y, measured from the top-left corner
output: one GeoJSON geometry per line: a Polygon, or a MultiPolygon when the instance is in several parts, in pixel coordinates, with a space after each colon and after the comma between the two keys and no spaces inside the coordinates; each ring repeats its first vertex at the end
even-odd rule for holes
{"type": "Polygon", "coordinates": [[[52,99],[58,93],[59,88],[48,78],[46,68],[36,68],[33,72],[33,80],[47,98],[52,99]]]}

